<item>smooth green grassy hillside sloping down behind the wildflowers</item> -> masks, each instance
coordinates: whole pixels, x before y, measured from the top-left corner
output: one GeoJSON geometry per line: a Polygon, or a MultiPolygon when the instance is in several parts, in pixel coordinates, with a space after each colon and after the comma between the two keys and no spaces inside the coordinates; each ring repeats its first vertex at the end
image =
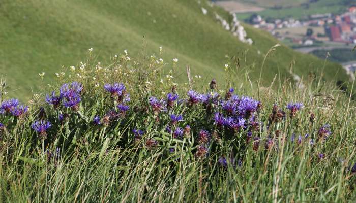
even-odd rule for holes
{"type": "MultiPolygon", "coordinates": [[[[144,48],[171,63],[179,58],[182,80],[185,65],[192,74],[217,78],[224,71],[228,56],[241,57],[243,68],[251,67],[256,80],[264,55],[278,42],[268,33],[245,26],[254,44],[247,45],[226,31],[215,19],[215,12],[229,15],[206,2],[193,0],[5,0],[0,3],[0,70],[9,85],[9,95],[29,98],[32,90],[51,83],[61,66],[77,66],[93,47],[98,60],[129,51],[134,57],[144,48]],[[201,8],[207,9],[203,15],[201,8]],[[243,56],[245,53],[246,58],[243,56]],[[39,73],[45,72],[41,83],[39,73]]],[[[230,17],[231,18],[231,17],[230,17]]],[[[133,58],[134,60],[134,58],[133,58]]],[[[263,81],[269,84],[279,73],[289,77],[294,72],[307,76],[320,69],[323,61],[281,46],[265,62],[263,81]]],[[[340,66],[328,63],[325,79],[347,80],[340,66]]]]}

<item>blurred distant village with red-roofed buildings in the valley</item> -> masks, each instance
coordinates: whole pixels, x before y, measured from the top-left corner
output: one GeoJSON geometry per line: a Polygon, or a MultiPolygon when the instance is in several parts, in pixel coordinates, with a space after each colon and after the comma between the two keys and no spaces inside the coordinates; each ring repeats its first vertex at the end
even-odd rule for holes
{"type": "Polygon", "coordinates": [[[293,18],[265,20],[253,15],[249,23],[269,31],[280,40],[288,39],[301,46],[313,46],[316,42],[356,44],[356,7],[350,7],[341,15],[310,15],[303,21],[293,18]]]}

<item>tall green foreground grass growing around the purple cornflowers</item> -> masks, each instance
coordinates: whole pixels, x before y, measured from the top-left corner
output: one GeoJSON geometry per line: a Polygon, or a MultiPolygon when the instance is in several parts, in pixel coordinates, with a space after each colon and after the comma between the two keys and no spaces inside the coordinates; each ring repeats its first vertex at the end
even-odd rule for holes
{"type": "MultiPolygon", "coordinates": [[[[194,76],[190,83],[177,83],[179,61],[130,57],[123,53],[101,64],[90,51],[85,62],[67,70],[67,76],[58,74],[59,84],[81,84],[77,106],[66,108],[65,97],[58,106],[47,104],[46,92],[59,93],[55,85],[34,95],[24,115],[1,115],[1,202],[356,199],[355,109],[333,85],[310,77],[304,89],[282,79],[258,87],[232,64],[225,67],[226,84],[194,76]],[[115,82],[124,84],[126,91],[104,90],[105,84],[115,82]],[[203,103],[197,95],[194,104],[187,96],[191,89],[211,95],[210,100],[203,103]],[[171,106],[168,93],[179,95],[171,106]],[[229,114],[223,108],[231,97],[246,98],[258,108],[229,114]],[[159,111],[154,101],[162,105],[159,111]],[[290,111],[286,107],[290,102],[304,107],[290,111]],[[129,110],[124,114],[119,104],[129,110]],[[232,130],[228,124],[216,124],[215,112],[246,119],[244,127],[232,130]],[[171,114],[183,115],[182,121],[172,122],[171,114]],[[46,136],[31,127],[39,120],[52,124],[46,136]],[[326,124],[330,129],[320,131],[326,124]],[[173,131],[181,127],[181,135],[167,126],[173,131]]],[[[2,104],[7,99],[3,97],[2,104]]]]}

